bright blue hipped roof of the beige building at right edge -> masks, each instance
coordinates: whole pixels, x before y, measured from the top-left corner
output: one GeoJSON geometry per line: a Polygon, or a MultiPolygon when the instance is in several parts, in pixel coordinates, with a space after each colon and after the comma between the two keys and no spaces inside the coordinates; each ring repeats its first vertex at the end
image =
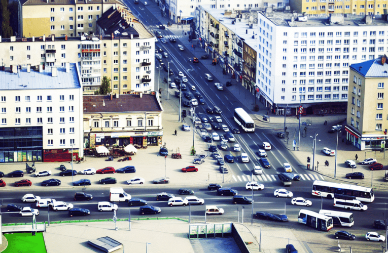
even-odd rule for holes
{"type": "Polygon", "coordinates": [[[359,74],[363,75],[364,77],[388,77],[388,57],[387,56],[380,56],[379,58],[351,64],[350,68],[354,71],[358,72],[359,74]],[[383,60],[383,58],[385,58],[383,60]],[[384,64],[382,64],[382,60],[384,64]]]}

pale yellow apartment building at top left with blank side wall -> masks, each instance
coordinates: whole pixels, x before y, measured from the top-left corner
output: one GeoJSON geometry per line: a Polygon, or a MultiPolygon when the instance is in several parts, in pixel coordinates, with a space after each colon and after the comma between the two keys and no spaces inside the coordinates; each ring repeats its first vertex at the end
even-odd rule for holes
{"type": "Polygon", "coordinates": [[[94,35],[105,11],[124,6],[117,0],[21,0],[20,5],[23,37],[94,35]]]}

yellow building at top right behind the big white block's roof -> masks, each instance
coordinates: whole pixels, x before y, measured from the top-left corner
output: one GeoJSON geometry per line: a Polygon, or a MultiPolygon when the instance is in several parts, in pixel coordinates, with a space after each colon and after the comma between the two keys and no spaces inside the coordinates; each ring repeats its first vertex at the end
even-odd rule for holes
{"type": "Polygon", "coordinates": [[[383,15],[386,2],[381,0],[293,0],[291,10],[306,15],[329,16],[330,14],[383,15]]]}

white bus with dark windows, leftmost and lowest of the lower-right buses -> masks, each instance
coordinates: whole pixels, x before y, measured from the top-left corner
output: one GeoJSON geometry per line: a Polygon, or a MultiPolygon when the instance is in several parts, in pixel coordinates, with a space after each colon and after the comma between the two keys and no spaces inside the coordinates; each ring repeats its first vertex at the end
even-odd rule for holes
{"type": "Polygon", "coordinates": [[[333,219],[331,217],[306,209],[299,210],[298,222],[323,231],[329,231],[333,228],[333,219]]]}

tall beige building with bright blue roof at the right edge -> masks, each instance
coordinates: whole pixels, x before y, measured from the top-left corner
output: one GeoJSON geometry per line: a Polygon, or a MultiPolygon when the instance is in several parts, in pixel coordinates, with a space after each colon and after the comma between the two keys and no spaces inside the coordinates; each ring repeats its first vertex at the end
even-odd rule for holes
{"type": "Polygon", "coordinates": [[[346,140],[361,150],[385,147],[388,105],[384,83],[388,83],[387,56],[350,65],[346,140]]]}

